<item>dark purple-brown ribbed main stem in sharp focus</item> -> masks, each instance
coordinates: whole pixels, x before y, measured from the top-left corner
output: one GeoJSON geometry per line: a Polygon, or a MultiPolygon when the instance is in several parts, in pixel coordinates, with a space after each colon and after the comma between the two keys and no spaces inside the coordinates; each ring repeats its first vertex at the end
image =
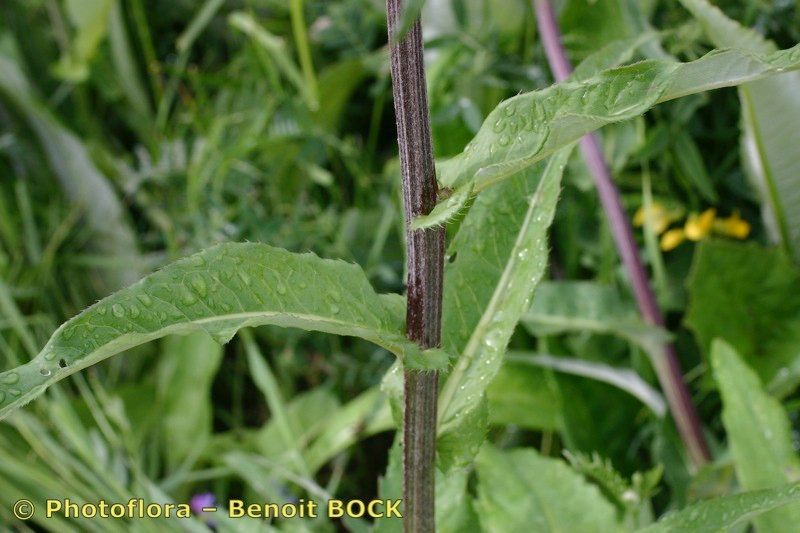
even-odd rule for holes
{"type": "MultiPolygon", "coordinates": [[[[397,142],[406,228],[436,204],[428,97],[419,19],[397,40],[403,0],[386,0],[397,142]]],[[[442,322],[444,229],[406,230],[406,335],[422,348],[438,346],[442,322]]],[[[434,458],[438,373],[405,371],[403,420],[404,528],[434,531],[434,458]]]]}

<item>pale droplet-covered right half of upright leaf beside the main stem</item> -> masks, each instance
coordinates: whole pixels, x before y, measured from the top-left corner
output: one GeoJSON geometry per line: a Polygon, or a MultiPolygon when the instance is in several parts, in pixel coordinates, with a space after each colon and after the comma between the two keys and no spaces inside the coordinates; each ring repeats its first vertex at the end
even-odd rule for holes
{"type": "MultiPolygon", "coordinates": [[[[572,147],[548,161],[494,289],[439,398],[439,461],[444,469],[471,460],[485,433],[484,392],[547,264],[547,231],[572,147]],[[457,436],[457,437],[456,437],[457,436]]],[[[491,246],[491,243],[488,243],[491,246]]],[[[462,304],[464,305],[464,304],[462,304]]]]}

